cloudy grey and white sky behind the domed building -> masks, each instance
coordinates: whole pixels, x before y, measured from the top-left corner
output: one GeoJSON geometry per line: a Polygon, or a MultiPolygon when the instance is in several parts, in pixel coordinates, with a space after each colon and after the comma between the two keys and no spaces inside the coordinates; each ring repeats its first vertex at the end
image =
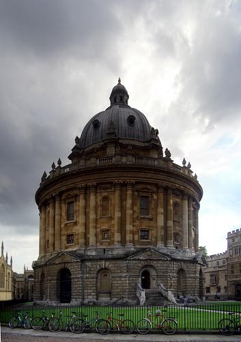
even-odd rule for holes
{"type": "Polygon", "coordinates": [[[0,239],[38,258],[34,195],[118,77],[203,187],[200,245],[241,227],[241,2],[0,0],[0,239]]]}

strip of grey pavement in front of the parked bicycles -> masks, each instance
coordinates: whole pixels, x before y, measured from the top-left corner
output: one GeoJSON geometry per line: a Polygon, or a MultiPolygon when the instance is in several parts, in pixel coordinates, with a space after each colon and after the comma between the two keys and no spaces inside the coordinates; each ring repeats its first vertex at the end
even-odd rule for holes
{"type": "Polygon", "coordinates": [[[1,339],[0,342],[113,342],[113,341],[125,341],[125,342],[241,342],[241,334],[232,336],[224,336],[222,334],[174,334],[171,336],[158,333],[150,334],[118,334],[111,333],[107,335],[97,334],[95,332],[83,332],[83,334],[74,334],[72,332],[50,332],[47,330],[26,330],[23,328],[11,329],[7,326],[1,326],[1,339]]]}

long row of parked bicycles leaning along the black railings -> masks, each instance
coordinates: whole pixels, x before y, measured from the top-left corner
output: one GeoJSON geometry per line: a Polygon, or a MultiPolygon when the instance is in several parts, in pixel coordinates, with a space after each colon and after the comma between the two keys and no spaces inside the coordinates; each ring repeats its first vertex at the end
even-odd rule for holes
{"type": "Polygon", "coordinates": [[[107,319],[103,319],[99,317],[98,311],[96,311],[96,316],[91,319],[84,314],[77,315],[76,311],[72,311],[70,316],[64,316],[59,311],[58,316],[51,313],[50,317],[47,317],[45,310],[42,311],[41,317],[30,317],[27,313],[18,312],[10,318],[8,325],[10,328],[23,327],[25,329],[33,328],[33,330],[47,328],[51,332],[59,332],[64,329],[76,334],[89,330],[100,334],[109,334],[113,329],[117,329],[123,334],[132,334],[136,331],[140,334],[147,334],[152,329],[158,329],[165,334],[174,334],[178,329],[178,322],[175,318],[165,317],[165,312],[156,310],[156,313],[152,315],[151,311],[147,309],[147,317],[137,321],[137,324],[134,324],[131,319],[124,319],[124,314],[113,317],[112,313],[108,313],[107,319]]]}

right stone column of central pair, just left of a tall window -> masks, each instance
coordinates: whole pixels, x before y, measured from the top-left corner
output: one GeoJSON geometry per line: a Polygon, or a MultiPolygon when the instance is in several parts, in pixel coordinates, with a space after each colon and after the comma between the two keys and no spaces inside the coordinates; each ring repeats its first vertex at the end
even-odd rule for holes
{"type": "Polygon", "coordinates": [[[132,190],[133,181],[126,183],[126,245],[133,245],[133,208],[132,208],[132,190]]]}

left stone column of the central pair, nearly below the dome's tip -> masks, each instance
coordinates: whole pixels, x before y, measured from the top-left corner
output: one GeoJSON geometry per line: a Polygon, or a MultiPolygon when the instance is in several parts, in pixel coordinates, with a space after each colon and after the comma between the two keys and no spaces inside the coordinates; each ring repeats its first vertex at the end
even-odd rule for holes
{"type": "Polygon", "coordinates": [[[122,246],[121,239],[121,217],[122,217],[122,203],[121,203],[121,189],[122,182],[115,182],[115,246],[122,246]]]}

